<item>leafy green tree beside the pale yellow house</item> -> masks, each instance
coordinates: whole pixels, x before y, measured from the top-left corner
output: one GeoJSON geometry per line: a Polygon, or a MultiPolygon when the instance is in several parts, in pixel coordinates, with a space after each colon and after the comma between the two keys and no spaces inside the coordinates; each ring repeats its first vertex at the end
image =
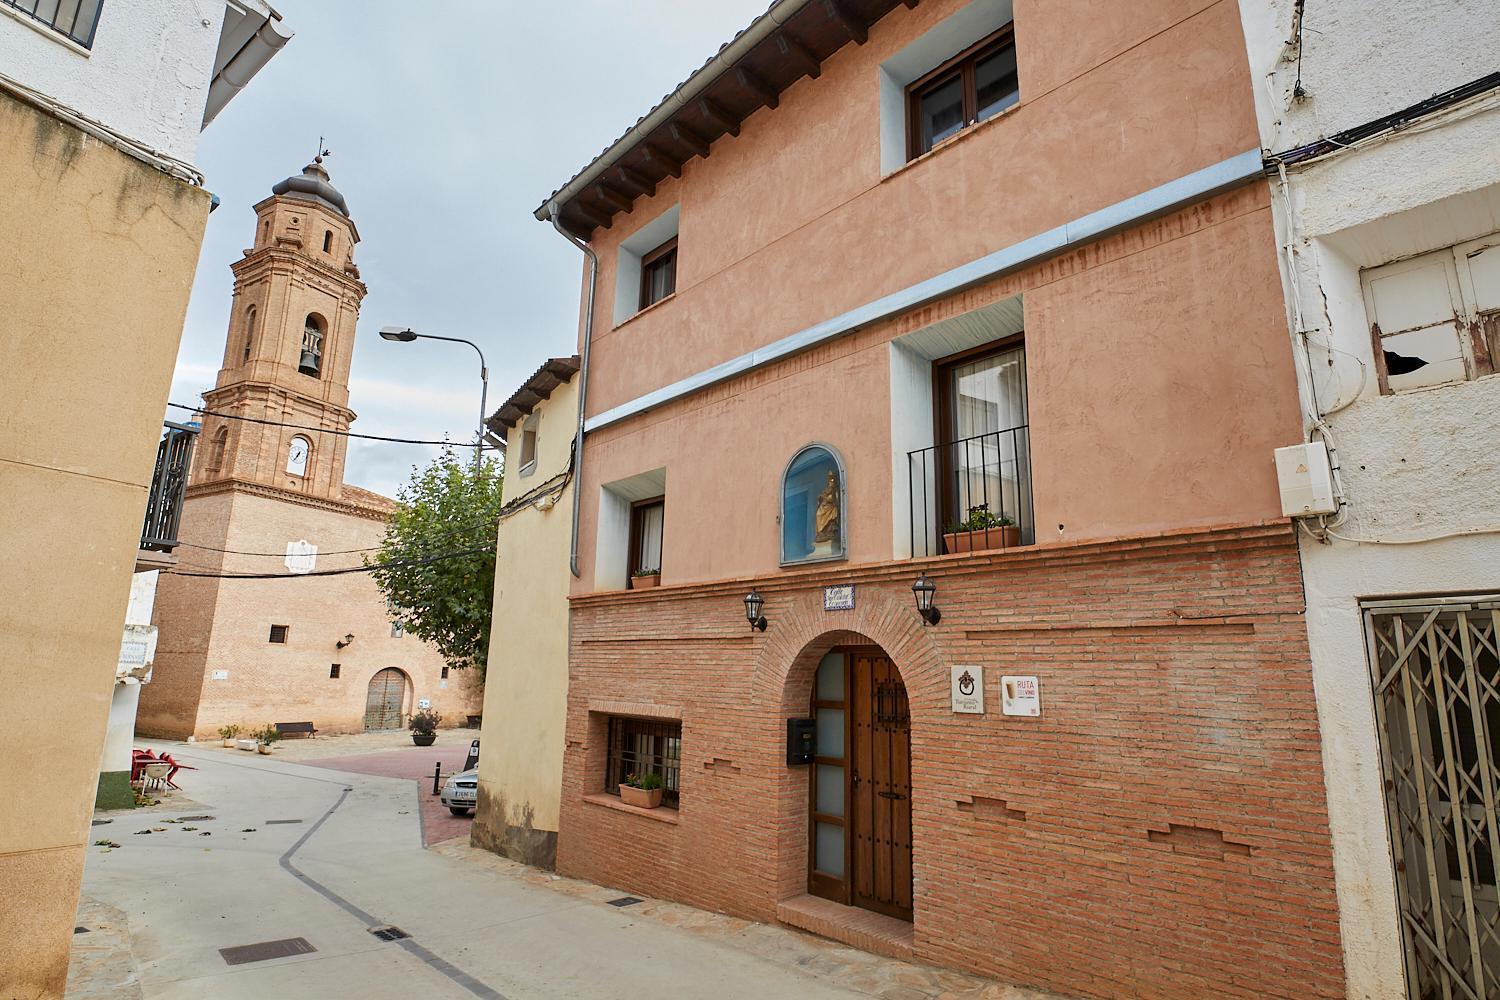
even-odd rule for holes
{"type": "Polygon", "coordinates": [[[412,466],[396,493],[400,508],[366,565],[406,631],[436,646],[453,667],[484,676],[490,604],[495,595],[495,525],[501,475],[486,462],[446,450],[426,468],[412,466]]]}

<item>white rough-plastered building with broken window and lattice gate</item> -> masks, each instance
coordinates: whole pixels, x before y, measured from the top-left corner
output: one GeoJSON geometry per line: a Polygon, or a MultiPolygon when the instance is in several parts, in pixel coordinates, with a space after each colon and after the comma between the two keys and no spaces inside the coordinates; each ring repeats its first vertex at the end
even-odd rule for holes
{"type": "Polygon", "coordinates": [[[1348,996],[1497,996],[1500,1],[1240,12],[1338,505],[1300,547],[1348,996]]]}

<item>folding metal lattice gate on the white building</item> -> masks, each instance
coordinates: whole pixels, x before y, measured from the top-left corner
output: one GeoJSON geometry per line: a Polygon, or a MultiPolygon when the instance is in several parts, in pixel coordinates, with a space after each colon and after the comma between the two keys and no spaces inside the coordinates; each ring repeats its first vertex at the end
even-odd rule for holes
{"type": "Polygon", "coordinates": [[[1365,610],[1412,1000],[1500,997],[1500,600],[1365,610]]]}

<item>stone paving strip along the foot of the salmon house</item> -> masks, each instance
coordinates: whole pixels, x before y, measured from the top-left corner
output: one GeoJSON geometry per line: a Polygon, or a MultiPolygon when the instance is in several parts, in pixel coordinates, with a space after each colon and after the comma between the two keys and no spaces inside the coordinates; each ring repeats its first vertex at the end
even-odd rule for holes
{"type": "MultiPolygon", "coordinates": [[[[430,850],[579,901],[608,906],[627,895],[618,889],[566,879],[470,847],[466,838],[442,841],[434,844],[430,850]]],[[[962,972],[882,958],[789,928],[710,913],[680,903],[645,898],[630,904],[626,912],[633,918],[676,927],[688,934],[717,940],[756,958],[882,1000],[1066,1000],[1054,993],[1010,987],[962,972]]]]}

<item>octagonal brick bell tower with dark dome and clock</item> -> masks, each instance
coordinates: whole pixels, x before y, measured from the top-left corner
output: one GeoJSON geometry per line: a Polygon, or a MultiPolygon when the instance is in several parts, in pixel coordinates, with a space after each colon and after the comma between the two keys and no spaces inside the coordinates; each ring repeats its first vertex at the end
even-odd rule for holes
{"type": "Polygon", "coordinates": [[[224,366],[192,483],[236,480],[336,499],[344,486],[350,363],[364,283],[360,234],[320,153],[255,205],[234,271],[224,366]],[[225,414],[225,415],[214,415],[225,414]],[[280,424],[297,424],[288,427],[280,424]]]}

